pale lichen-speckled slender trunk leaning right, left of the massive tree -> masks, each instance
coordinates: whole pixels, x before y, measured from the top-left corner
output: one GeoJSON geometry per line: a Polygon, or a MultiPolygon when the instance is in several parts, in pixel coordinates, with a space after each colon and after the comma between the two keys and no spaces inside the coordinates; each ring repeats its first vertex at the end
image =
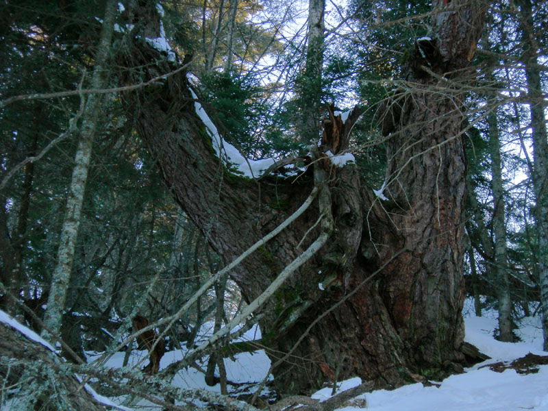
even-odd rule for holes
{"type": "MultiPolygon", "coordinates": [[[[116,1],[108,0],[105,5],[105,18],[101,27],[99,47],[95,57],[91,88],[100,90],[107,84],[105,72],[106,62],[112,43],[114,17],[116,16],[116,1]]],[[[82,116],[82,129],[79,134],[78,147],[75,153],[75,166],[71,177],[69,195],[66,200],[64,222],[61,229],[61,240],[57,254],[57,264],[53,271],[47,309],[44,323],[55,334],[60,332],[62,312],[66,301],[66,292],[69,288],[73,267],[74,252],[82,214],[82,203],[86,191],[88,169],[90,166],[93,139],[102,95],[92,94],[86,101],[86,108],[82,116]]]]}

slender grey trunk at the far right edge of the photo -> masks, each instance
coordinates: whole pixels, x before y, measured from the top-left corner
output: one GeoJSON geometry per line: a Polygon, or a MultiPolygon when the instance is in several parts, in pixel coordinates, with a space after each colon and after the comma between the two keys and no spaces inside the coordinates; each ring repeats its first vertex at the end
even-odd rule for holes
{"type": "Polygon", "coordinates": [[[540,82],[540,70],[536,51],[539,49],[534,36],[533,5],[530,0],[516,2],[521,8],[521,34],[523,47],[523,64],[527,77],[527,95],[531,112],[531,129],[533,137],[533,189],[536,206],[538,240],[538,273],[540,283],[540,303],[543,307],[544,349],[548,350],[548,142],[545,117],[546,102],[540,82]]]}

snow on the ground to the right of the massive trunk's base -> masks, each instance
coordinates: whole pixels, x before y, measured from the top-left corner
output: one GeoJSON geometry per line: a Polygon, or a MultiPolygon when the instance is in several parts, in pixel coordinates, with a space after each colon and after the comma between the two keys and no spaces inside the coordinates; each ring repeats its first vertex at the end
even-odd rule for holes
{"type": "MultiPolygon", "coordinates": [[[[484,366],[499,361],[511,362],[530,352],[547,356],[548,353],[542,351],[540,317],[526,317],[521,321],[518,332],[523,340],[521,343],[501,343],[493,338],[498,326],[496,316],[489,312],[486,314],[488,316],[468,316],[464,319],[465,340],[490,356],[491,360],[466,369],[464,374],[448,377],[439,388],[412,384],[397,390],[378,390],[362,395],[360,397],[366,399],[367,410],[548,410],[548,366],[539,366],[538,373],[528,375],[520,375],[512,369],[497,373],[484,366]]],[[[362,409],[346,407],[340,410],[362,409]]]]}

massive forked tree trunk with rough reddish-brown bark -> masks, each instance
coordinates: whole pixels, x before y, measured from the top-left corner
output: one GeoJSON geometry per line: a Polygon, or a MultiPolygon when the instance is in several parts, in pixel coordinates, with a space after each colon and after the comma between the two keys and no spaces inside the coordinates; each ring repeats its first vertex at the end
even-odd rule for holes
{"type": "MultiPolygon", "coordinates": [[[[417,45],[408,68],[414,88],[386,104],[388,201],[373,195],[356,166],[332,166],[334,232],[262,310],[271,358],[291,351],[273,371],[282,393],[304,393],[336,371],[339,378],[359,375],[397,386],[419,373],[440,378],[462,369],[464,110],[454,86],[470,75],[462,69],[482,29],[484,8],[478,2],[434,3],[439,38],[422,40],[427,53],[417,45]]],[[[159,57],[145,45],[135,47],[120,64],[145,67],[159,57]]],[[[170,69],[158,62],[150,75],[170,69]]],[[[126,82],[140,81],[131,70],[125,73],[126,82]]],[[[154,90],[127,92],[125,111],[177,202],[229,262],[303,203],[314,176],[308,171],[296,181],[252,181],[231,173],[216,157],[188,87],[181,71],[154,90]]],[[[247,300],[319,236],[320,227],[308,232],[319,208],[316,201],[232,271],[247,300]]]]}

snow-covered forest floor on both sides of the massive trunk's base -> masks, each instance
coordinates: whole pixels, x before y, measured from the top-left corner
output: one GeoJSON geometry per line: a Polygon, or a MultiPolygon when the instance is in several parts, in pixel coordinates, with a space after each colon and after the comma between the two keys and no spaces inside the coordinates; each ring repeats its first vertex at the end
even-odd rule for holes
{"type": "MultiPolygon", "coordinates": [[[[543,333],[540,316],[525,317],[519,321],[515,334],[518,343],[501,343],[493,334],[497,327],[497,313],[486,311],[483,316],[473,314],[470,301],[466,301],[464,321],[468,343],[475,345],[482,353],[490,356],[486,360],[460,375],[452,375],[443,382],[433,382],[432,386],[412,384],[397,390],[378,390],[367,393],[351,401],[351,406],[340,408],[345,411],[499,411],[499,410],[548,410],[548,352],[542,350],[543,333]],[[527,356],[528,354],[532,354],[527,356]],[[527,357],[525,357],[527,356],[527,357]],[[525,358],[524,358],[525,357],[525,358]],[[515,360],[520,359],[518,362],[515,360]],[[539,365],[540,364],[540,365],[539,365]],[[544,365],[543,365],[544,364],[544,365]],[[365,401],[363,401],[365,399],[365,401]]],[[[202,338],[208,335],[208,326],[204,326],[202,338]]],[[[242,339],[260,338],[258,329],[249,330],[242,339]]],[[[144,352],[129,359],[129,364],[137,362],[144,352]]],[[[160,369],[173,361],[180,360],[184,351],[171,351],[162,358],[160,369]]],[[[92,356],[91,356],[92,357],[92,356]]],[[[92,358],[90,358],[92,359],[92,358]]],[[[108,365],[121,366],[123,353],[112,357],[108,365]]],[[[146,363],[146,362],[145,362],[146,363]]],[[[253,354],[240,353],[225,359],[228,390],[232,395],[253,393],[258,382],[268,373],[270,361],[264,351],[253,354]]],[[[173,384],[182,388],[202,388],[220,392],[220,386],[207,386],[203,372],[206,362],[195,368],[182,370],[173,380],[173,384]]],[[[338,385],[338,393],[361,384],[360,378],[352,378],[338,385]]],[[[312,395],[312,399],[331,397],[332,388],[323,388],[312,395]]],[[[268,389],[264,388],[264,395],[268,389]]],[[[151,405],[151,404],[150,404],[151,405]]],[[[138,408],[147,408],[147,402],[141,401],[138,408]]],[[[152,409],[152,408],[151,408],[152,409]]],[[[156,409],[156,408],[155,408],[156,409]]]]}

